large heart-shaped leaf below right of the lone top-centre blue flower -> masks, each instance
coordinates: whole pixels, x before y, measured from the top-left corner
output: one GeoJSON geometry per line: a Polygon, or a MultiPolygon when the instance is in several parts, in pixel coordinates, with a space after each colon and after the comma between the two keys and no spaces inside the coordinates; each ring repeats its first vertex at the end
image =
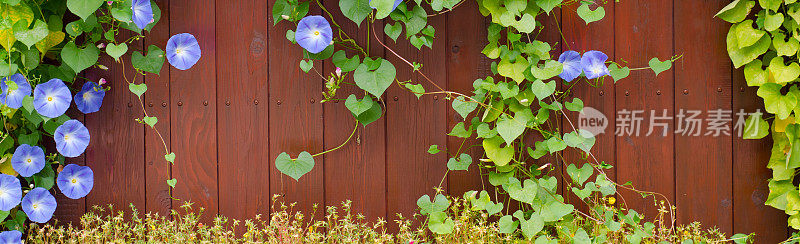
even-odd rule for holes
{"type": "Polygon", "coordinates": [[[370,69],[366,64],[361,64],[353,74],[356,85],[375,97],[381,97],[386,88],[392,85],[397,72],[392,63],[385,59],[379,60],[380,66],[377,69],[370,69]]]}

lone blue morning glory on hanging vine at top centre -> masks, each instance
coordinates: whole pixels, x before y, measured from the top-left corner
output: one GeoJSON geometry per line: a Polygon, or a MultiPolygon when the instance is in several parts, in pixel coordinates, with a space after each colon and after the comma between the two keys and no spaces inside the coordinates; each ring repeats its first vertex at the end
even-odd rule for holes
{"type": "Polygon", "coordinates": [[[331,45],[333,41],[333,30],[331,25],[324,17],[319,15],[309,15],[297,23],[297,31],[294,33],[297,44],[310,53],[319,53],[331,45]]]}

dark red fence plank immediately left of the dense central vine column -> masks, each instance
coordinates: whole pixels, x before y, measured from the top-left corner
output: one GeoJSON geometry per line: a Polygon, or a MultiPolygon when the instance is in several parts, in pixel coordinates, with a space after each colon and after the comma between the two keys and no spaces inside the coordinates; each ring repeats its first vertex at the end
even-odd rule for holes
{"type": "MultiPolygon", "coordinates": [[[[485,79],[492,75],[492,60],[486,57],[481,50],[486,46],[486,28],[488,21],[481,18],[478,5],[475,3],[461,4],[456,10],[447,13],[447,89],[467,96],[473,95],[472,82],[476,79],[485,79]]],[[[439,32],[441,33],[441,32],[439,32]]],[[[441,41],[441,39],[437,40],[441,41]]],[[[452,100],[451,100],[452,102],[452,100]]],[[[447,110],[447,128],[452,129],[459,122],[469,125],[475,112],[465,120],[455,110],[452,104],[445,105],[447,110]]],[[[488,182],[481,182],[478,169],[478,159],[483,157],[480,147],[481,141],[448,136],[447,149],[450,157],[458,158],[460,153],[472,156],[472,165],[468,171],[450,171],[448,173],[449,193],[452,196],[461,196],[471,190],[482,190],[484,186],[491,186],[488,182]],[[463,146],[462,146],[463,145],[463,146]],[[459,152],[459,149],[461,150],[459,152]]],[[[484,172],[486,173],[486,172],[484,172]]]]}

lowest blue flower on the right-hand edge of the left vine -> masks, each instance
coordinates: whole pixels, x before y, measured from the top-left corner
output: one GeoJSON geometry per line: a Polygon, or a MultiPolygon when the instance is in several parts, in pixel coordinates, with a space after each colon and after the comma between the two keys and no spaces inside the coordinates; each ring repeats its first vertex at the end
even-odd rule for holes
{"type": "Polygon", "coordinates": [[[69,164],[58,173],[56,183],[64,196],[72,199],[85,197],[94,186],[94,172],[89,166],[69,164]]]}

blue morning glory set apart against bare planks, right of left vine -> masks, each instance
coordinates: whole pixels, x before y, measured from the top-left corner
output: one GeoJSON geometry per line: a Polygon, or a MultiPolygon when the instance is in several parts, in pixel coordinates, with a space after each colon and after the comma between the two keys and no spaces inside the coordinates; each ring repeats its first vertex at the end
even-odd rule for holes
{"type": "Polygon", "coordinates": [[[187,70],[200,60],[200,44],[192,34],[181,33],[167,41],[167,61],[172,67],[187,70]]]}

